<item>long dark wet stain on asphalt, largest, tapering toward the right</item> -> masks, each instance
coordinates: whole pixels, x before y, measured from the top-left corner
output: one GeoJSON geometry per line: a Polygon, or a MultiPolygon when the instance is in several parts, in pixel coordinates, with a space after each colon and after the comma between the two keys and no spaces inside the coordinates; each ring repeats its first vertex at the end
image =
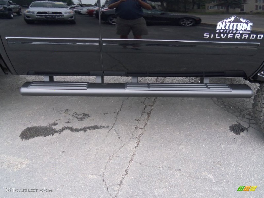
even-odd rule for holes
{"type": "Polygon", "coordinates": [[[97,129],[108,129],[109,126],[102,126],[102,125],[92,125],[92,126],[85,126],[83,128],[73,128],[72,126],[64,126],[63,128],[57,130],[53,127],[54,125],[49,124],[48,126],[30,126],[27,127],[22,131],[19,135],[20,139],[22,140],[30,140],[36,137],[47,137],[50,135],[54,135],[55,133],[61,134],[65,130],[70,130],[72,133],[75,132],[86,132],[87,130],[97,130],[97,129]]]}

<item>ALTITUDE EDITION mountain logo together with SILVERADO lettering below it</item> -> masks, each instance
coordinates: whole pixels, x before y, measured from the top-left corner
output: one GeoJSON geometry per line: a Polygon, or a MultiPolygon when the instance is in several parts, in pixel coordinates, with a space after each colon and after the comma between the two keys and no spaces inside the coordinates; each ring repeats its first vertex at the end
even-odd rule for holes
{"type": "Polygon", "coordinates": [[[263,34],[250,34],[253,23],[232,16],[220,21],[216,25],[216,33],[204,33],[204,38],[211,39],[263,39],[263,34]]]}

